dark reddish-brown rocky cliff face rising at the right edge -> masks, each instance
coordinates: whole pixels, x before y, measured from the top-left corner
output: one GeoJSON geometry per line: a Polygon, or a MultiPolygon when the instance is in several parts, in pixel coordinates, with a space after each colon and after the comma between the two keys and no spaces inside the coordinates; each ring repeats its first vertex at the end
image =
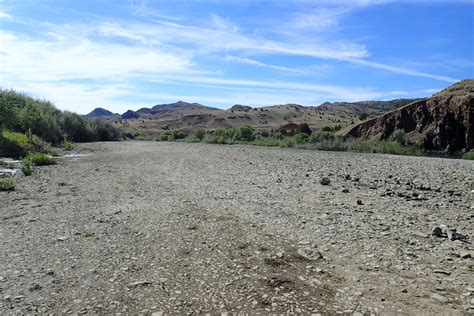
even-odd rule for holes
{"type": "Polygon", "coordinates": [[[389,139],[397,129],[426,150],[452,153],[474,148],[474,80],[465,80],[433,97],[368,120],[349,130],[363,139],[389,139]],[[456,93],[452,93],[456,91],[456,93]]]}

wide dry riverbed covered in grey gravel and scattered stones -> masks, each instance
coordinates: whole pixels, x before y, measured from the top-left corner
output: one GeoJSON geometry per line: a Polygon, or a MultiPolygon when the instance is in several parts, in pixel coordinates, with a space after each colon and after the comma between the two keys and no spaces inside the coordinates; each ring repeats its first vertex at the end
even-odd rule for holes
{"type": "Polygon", "coordinates": [[[474,313],[472,161],[87,146],[0,192],[0,314],[474,313]]]}

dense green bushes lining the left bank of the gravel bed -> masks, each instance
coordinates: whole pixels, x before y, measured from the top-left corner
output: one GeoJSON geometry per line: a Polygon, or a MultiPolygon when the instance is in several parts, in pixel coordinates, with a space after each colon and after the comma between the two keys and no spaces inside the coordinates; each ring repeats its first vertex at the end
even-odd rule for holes
{"type": "MultiPolygon", "coordinates": [[[[102,120],[62,112],[49,101],[0,89],[0,156],[23,157],[29,152],[46,153],[61,141],[116,140],[118,130],[102,120]]],[[[68,144],[69,145],[69,144],[68,144]]]]}

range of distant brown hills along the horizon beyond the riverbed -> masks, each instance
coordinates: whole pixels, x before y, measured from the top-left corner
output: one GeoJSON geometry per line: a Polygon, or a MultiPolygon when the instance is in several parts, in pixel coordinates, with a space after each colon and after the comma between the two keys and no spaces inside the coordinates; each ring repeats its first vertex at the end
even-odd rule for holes
{"type": "Polygon", "coordinates": [[[178,101],[158,104],[151,108],[129,110],[121,117],[110,117],[119,128],[160,134],[169,129],[193,131],[198,128],[215,129],[251,125],[257,129],[278,129],[294,123],[306,123],[312,129],[322,127],[346,127],[358,123],[361,113],[369,118],[383,114],[412,100],[364,101],[324,103],[321,106],[281,104],[262,108],[236,104],[228,110],[208,107],[199,103],[178,101]],[[124,121],[125,120],[125,121],[124,121]]]}

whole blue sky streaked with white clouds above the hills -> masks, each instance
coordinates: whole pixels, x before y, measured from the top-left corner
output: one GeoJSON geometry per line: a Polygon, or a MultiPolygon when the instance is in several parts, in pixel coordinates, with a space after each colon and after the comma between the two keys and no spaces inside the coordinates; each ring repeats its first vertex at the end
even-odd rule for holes
{"type": "Polygon", "coordinates": [[[474,77],[473,1],[0,0],[0,86],[58,108],[425,97],[474,77]]]}

